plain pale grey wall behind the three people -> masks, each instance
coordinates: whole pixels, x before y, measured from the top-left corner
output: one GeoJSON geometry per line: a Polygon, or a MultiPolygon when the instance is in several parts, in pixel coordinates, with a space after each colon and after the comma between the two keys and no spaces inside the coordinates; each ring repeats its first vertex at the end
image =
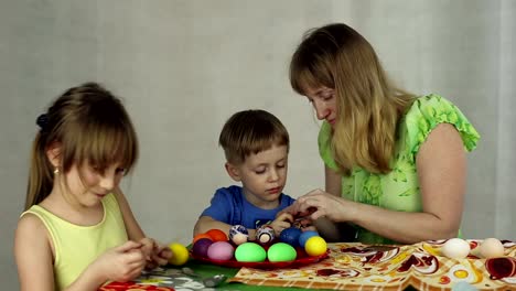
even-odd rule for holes
{"type": "Polygon", "coordinates": [[[516,239],[516,1],[0,1],[0,280],[18,288],[13,233],[35,118],[87,80],[122,97],[141,158],[123,190],[141,226],[191,240],[214,191],[232,184],[217,138],[235,111],[261,108],[291,134],[286,193],[323,187],[319,123],[289,86],[308,29],[354,26],[398,84],[437,93],[482,136],[469,157],[463,234],[516,239]]]}

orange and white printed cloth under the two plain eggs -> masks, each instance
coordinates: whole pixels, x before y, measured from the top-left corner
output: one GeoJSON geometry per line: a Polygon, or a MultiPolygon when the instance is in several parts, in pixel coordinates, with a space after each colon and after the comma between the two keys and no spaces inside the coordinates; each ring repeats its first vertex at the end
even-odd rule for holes
{"type": "MultiPolygon", "coordinates": [[[[503,240],[505,257],[472,256],[480,240],[469,240],[465,259],[440,255],[445,240],[408,246],[329,244],[330,257],[297,269],[241,268],[229,281],[254,285],[300,287],[334,290],[451,290],[465,285],[477,290],[516,290],[516,244],[503,240]]],[[[464,290],[464,289],[462,289],[464,290]]]]}

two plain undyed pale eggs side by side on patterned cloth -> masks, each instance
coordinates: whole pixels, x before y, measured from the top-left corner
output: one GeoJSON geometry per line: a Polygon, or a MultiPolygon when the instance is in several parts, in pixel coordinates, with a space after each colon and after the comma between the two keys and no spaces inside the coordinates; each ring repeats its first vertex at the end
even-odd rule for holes
{"type": "Polygon", "coordinates": [[[504,256],[504,245],[496,238],[484,239],[480,247],[472,251],[470,242],[462,238],[448,239],[441,247],[441,254],[452,259],[463,259],[470,255],[490,259],[504,256]]]}

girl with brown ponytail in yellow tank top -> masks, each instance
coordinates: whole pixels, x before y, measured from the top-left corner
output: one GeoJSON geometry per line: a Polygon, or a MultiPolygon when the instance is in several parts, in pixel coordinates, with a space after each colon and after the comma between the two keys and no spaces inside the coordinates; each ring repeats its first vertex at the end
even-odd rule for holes
{"type": "Polygon", "coordinates": [[[97,290],[165,265],[118,187],[138,158],[132,122],[98,84],[69,88],[36,120],[14,256],[21,290],[97,290]],[[37,270],[37,271],[34,271],[37,270]]]}

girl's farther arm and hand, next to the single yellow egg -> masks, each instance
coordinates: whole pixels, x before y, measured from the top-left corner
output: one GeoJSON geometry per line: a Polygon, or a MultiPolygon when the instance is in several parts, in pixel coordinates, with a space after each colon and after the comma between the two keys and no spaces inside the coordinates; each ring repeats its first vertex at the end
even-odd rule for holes
{"type": "Polygon", "coordinates": [[[122,191],[117,187],[114,190],[114,193],[123,217],[127,236],[130,240],[139,241],[143,245],[142,250],[148,260],[148,268],[157,267],[157,265],[166,265],[168,260],[172,257],[172,251],[166,246],[157,242],[152,238],[146,237],[122,191]]]}

